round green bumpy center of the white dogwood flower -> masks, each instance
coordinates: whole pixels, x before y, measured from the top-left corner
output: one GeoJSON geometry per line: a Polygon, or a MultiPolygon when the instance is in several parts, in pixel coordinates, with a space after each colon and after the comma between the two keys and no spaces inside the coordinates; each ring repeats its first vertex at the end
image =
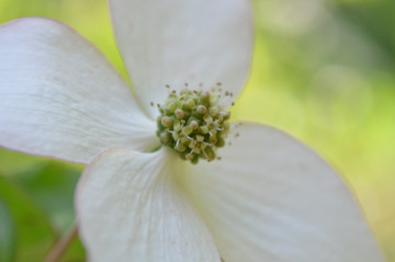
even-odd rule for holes
{"type": "MultiPolygon", "coordinates": [[[[232,93],[225,92],[224,95],[232,96],[232,93]]],[[[182,159],[192,163],[198,163],[201,158],[214,160],[216,149],[225,146],[230,127],[230,112],[221,100],[221,89],[213,92],[171,91],[165,103],[158,104],[157,136],[161,144],[173,148],[182,159]]]]}

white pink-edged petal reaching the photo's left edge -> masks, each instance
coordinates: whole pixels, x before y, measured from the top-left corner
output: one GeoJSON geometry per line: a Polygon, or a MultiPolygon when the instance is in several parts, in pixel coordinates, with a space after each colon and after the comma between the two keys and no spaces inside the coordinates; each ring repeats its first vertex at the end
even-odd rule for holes
{"type": "Polygon", "coordinates": [[[155,123],[90,43],[48,19],[0,27],[0,146],[88,162],[111,146],[151,150],[155,123]]]}

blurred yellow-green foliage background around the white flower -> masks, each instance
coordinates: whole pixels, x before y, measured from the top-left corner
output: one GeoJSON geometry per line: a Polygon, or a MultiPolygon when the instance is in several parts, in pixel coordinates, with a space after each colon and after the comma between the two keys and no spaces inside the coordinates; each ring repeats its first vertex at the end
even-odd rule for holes
{"type": "MultiPolygon", "coordinates": [[[[236,118],[320,152],[395,261],[395,1],[255,0],[253,10],[253,66],[236,118]]],[[[69,24],[126,77],[104,0],[0,0],[0,23],[31,15],[69,24]]],[[[81,169],[0,149],[0,262],[42,261],[72,225],[81,169]]],[[[63,261],[84,261],[78,240],[63,261]]]]}

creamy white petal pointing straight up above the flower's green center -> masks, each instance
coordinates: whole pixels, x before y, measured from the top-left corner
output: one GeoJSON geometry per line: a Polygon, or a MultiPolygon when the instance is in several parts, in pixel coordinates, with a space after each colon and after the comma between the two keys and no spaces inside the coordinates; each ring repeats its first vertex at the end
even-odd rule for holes
{"type": "Polygon", "coordinates": [[[252,22],[247,0],[110,0],[120,50],[147,112],[171,89],[223,83],[235,94],[249,70],[252,22]]]}

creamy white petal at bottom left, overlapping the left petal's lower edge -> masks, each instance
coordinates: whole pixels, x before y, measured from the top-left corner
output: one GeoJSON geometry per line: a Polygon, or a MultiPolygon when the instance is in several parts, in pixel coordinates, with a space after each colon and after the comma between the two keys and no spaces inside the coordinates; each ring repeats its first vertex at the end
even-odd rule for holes
{"type": "Polygon", "coordinates": [[[76,206],[90,261],[221,261],[206,226],[174,180],[181,160],[172,153],[115,148],[88,166],[76,206]]]}

